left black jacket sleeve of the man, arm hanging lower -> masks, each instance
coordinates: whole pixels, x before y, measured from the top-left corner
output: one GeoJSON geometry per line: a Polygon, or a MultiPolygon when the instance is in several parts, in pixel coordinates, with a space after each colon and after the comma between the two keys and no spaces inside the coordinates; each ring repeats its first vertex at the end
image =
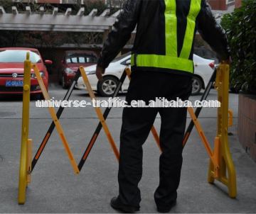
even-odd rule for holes
{"type": "Polygon", "coordinates": [[[131,38],[132,31],[137,25],[139,7],[142,0],[127,0],[117,16],[117,20],[105,41],[97,65],[104,69],[108,67],[114,57],[122,50],[122,47],[131,38]]]}

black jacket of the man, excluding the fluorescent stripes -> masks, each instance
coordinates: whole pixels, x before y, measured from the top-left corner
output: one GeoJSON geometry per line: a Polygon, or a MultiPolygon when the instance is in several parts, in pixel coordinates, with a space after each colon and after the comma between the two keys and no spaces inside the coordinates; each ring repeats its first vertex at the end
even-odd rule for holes
{"type": "MultiPolygon", "coordinates": [[[[200,0],[199,0],[200,1],[200,0]]],[[[186,32],[186,16],[191,0],[176,0],[178,17],[178,54],[181,52],[186,32]]],[[[132,52],[136,54],[165,55],[164,0],[127,0],[122,13],[117,17],[112,31],[105,41],[98,66],[106,68],[122,50],[137,26],[132,52]]],[[[223,29],[216,23],[210,6],[201,0],[201,11],[196,18],[196,30],[217,52],[220,60],[228,60],[230,52],[223,29]]],[[[195,33],[196,33],[195,30],[195,33]]],[[[193,59],[193,48],[190,59],[193,59]]]]}

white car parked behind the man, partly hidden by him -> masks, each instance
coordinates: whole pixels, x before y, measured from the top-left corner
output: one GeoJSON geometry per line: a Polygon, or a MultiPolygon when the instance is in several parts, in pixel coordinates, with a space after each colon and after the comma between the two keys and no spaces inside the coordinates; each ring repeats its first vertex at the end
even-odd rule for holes
{"type": "MultiPolygon", "coordinates": [[[[101,96],[112,96],[114,94],[114,90],[117,88],[118,81],[130,60],[130,53],[117,57],[110,63],[109,67],[107,67],[105,74],[103,75],[103,81],[98,81],[95,75],[96,65],[86,67],[85,71],[92,86],[92,90],[97,91],[101,96]]],[[[215,64],[214,60],[206,60],[198,55],[193,55],[193,61],[195,65],[195,72],[193,76],[192,95],[196,95],[200,93],[201,89],[205,89],[207,86],[208,81],[213,74],[215,64]]],[[[126,78],[121,91],[127,91],[128,86],[129,79],[126,78]]],[[[78,83],[75,87],[77,89],[86,88],[82,77],[78,79],[78,83]]]]}

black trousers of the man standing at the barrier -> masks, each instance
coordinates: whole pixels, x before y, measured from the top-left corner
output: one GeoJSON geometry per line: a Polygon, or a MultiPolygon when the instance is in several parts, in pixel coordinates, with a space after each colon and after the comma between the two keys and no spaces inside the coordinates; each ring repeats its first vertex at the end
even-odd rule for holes
{"type": "MultiPolygon", "coordinates": [[[[168,100],[188,99],[191,77],[164,72],[133,72],[127,102],[150,101],[156,97],[168,100]]],[[[186,128],[186,108],[124,108],[120,135],[119,200],[139,206],[138,184],[142,178],[142,145],[149,135],[156,114],[161,116],[159,186],[154,193],[156,205],[169,208],[177,198],[181,176],[182,140],[186,128]]]]}

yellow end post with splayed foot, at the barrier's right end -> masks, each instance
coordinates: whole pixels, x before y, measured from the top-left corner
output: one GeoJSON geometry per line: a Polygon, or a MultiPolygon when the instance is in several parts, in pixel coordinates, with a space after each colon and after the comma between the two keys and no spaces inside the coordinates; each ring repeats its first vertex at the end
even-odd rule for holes
{"type": "Polygon", "coordinates": [[[215,88],[218,91],[218,101],[221,106],[218,108],[218,128],[217,136],[219,142],[220,155],[220,170],[216,175],[213,163],[210,161],[208,170],[208,182],[213,183],[215,179],[228,186],[228,193],[230,198],[235,198],[237,195],[236,187],[236,173],[233,159],[230,154],[230,147],[228,142],[228,126],[229,124],[229,110],[228,110],[228,95],[229,95],[229,65],[220,64],[217,69],[217,76],[215,81],[215,88]],[[227,175],[228,172],[228,175],[227,175]]]}

